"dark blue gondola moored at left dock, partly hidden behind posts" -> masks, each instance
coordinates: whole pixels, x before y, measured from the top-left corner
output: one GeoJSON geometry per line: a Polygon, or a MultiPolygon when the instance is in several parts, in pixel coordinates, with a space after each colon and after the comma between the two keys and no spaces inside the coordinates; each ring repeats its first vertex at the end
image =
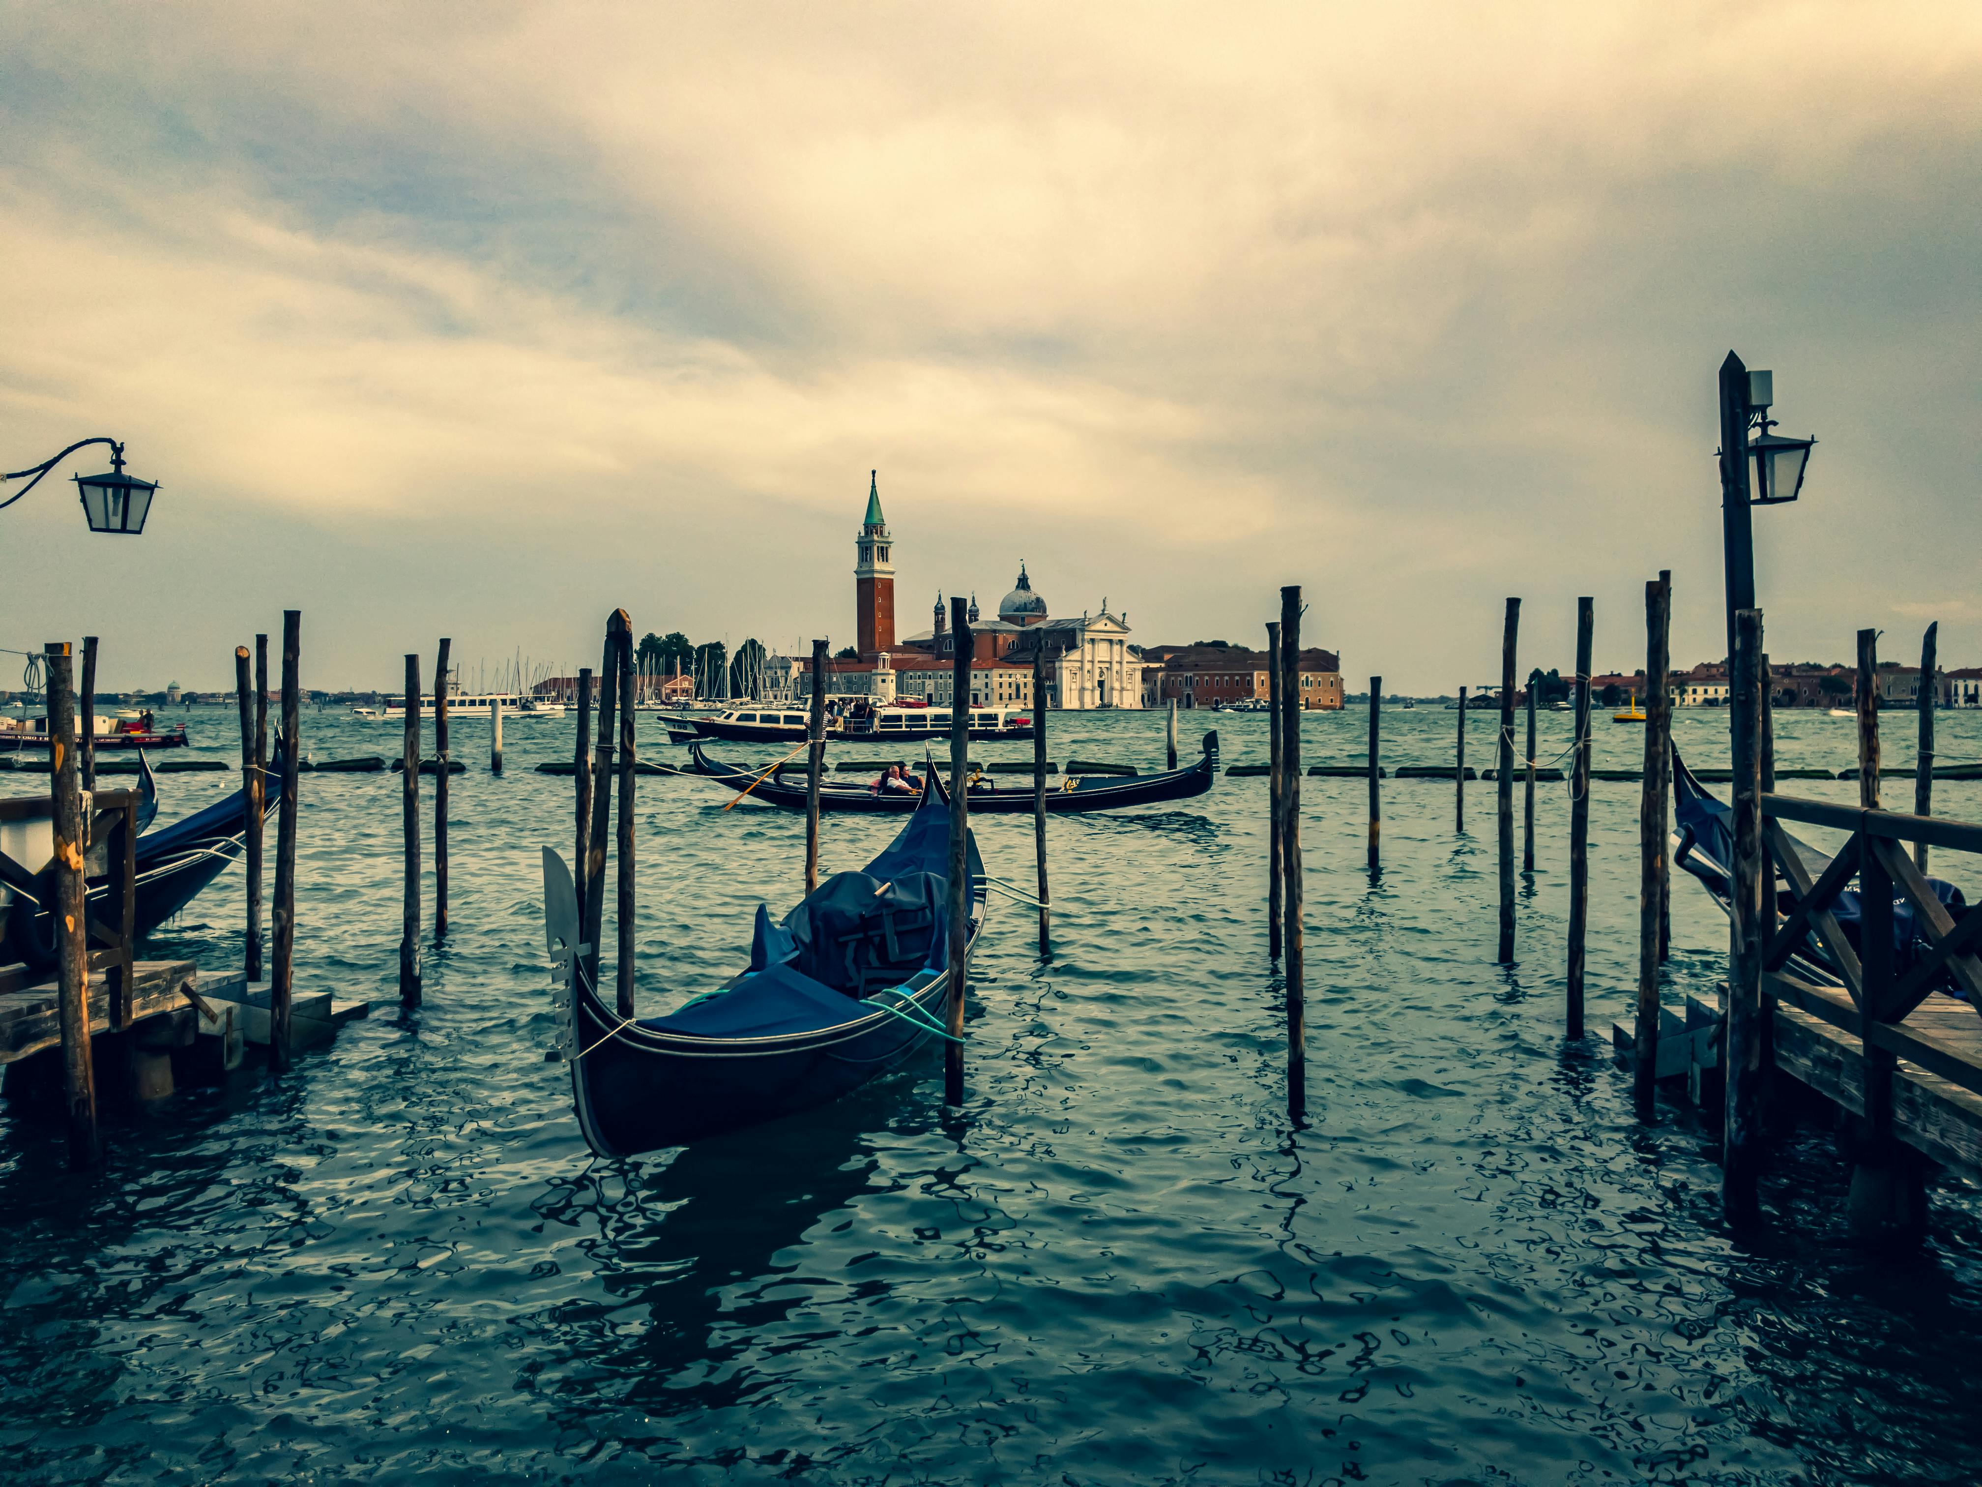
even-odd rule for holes
{"type": "MultiPolygon", "coordinates": [[[[159,811],[159,783],[151,761],[139,755],[139,839],[137,839],[137,902],[133,918],[137,932],[149,934],[198,896],[206,884],[242,855],[248,841],[246,791],[234,791],[222,801],[194,811],[182,821],[151,831],[159,811]]],[[[268,765],[272,779],[281,777],[281,747],[268,765]]],[[[268,795],[268,815],[275,813],[279,791],[268,795]]],[[[111,862],[97,843],[89,855],[91,914],[109,914],[111,862]]],[[[55,864],[50,860],[32,872],[14,858],[0,855],[0,880],[14,890],[6,924],[0,930],[0,960],[18,960],[32,970],[55,964],[55,920],[44,904],[55,902],[55,864]]]]}

